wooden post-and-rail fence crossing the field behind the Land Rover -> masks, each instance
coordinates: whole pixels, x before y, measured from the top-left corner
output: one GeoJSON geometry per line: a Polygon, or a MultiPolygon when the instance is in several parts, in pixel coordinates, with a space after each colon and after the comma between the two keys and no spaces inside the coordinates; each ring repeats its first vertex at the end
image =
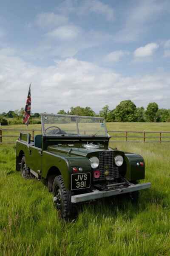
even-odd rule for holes
{"type": "MultiPolygon", "coordinates": [[[[40,129],[0,129],[0,143],[14,143],[20,132],[31,133],[34,140],[40,129]],[[11,135],[13,134],[13,135],[11,135]],[[10,140],[12,138],[12,141],[10,140]],[[9,139],[9,140],[8,140],[9,139]]],[[[108,131],[111,136],[110,142],[137,142],[137,143],[163,143],[170,142],[170,131],[108,131]],[[121,139],[121,140],[120,140],[121,139]]]]}

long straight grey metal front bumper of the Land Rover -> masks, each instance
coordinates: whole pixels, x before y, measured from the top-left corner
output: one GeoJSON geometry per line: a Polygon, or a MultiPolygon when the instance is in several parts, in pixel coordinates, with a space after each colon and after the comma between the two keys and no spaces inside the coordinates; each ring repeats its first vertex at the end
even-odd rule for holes
{"type": "Polygon", "coordinates": [[[89,201],[93,199],[98,199],[98,198],[104,198],[112,195],[120,195],[120,194],[125,194],[141,189],[148,189],[150,188],[151,183],[143,183],[143,184],[130,184],[130,186],[121,188],[121,189],[113,189],[109,191],[99,191],[98,189],[95,189],[94,192],[90,193],[85,193],[85,194],[80,194],[80,195],[72,195],[71,196],[71,203],[79,203],[79,202],[84,202],[84,201],[89,201]]]}

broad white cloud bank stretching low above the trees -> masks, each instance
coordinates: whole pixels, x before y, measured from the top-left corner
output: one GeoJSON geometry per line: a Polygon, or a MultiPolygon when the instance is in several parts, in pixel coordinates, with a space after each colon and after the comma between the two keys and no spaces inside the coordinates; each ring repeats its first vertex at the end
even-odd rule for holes
{"type": "Polygon", "coordinates": [[[75,58],[56,61],[48,67],[35,66],[3,53],[0,59],[1,112],[24,107],[30,82],[34,112],[57,113],[75,105],[91,106],[98,112],[104,105],[113,109],[125,99],[144,107],[151,101],[169,107],[169,74],[122,76],[75,58]]]}

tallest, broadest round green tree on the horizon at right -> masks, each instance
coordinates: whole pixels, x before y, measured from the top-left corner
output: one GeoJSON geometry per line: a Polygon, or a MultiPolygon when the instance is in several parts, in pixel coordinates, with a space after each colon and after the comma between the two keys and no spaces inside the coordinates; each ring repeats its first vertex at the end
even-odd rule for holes
{"type": "Polygon", "coordinates": [[[114,110],[116,122],[136,122],[136,105],[130,100],[123,100],[114,110]]]}

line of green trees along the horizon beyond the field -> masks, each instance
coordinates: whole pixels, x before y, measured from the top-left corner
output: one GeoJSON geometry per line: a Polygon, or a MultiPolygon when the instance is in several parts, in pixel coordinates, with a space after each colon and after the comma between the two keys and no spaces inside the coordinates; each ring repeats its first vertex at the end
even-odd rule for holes
{"type": "MultiPolygon", "coordinates": [[[[0,114],[0,120],[5,119],[5,117],[13,117],[16,120],[15,123],[20,123],[23,118],[23,112],[23,108],[16,111],[8,111],[7,113],[3,112],[0,114]]],[[[110,110],[109,106],[105,105],[98,114],[91,107],[83,108],[80,106],[71,107],[70,111],[61,109],[58,114],[101,116],[105,118],[106,122],[170,122],[170,109],[159,108],[156,102],[149,103],[146,109],[143,107],[136,108],[136,105],[131,100],[120,102],[113,110],[110,110]]],[[[31,123],[40,123],[40,120],[34,120],[39,117],[40,113],[31,113],[31,123]]]]}

